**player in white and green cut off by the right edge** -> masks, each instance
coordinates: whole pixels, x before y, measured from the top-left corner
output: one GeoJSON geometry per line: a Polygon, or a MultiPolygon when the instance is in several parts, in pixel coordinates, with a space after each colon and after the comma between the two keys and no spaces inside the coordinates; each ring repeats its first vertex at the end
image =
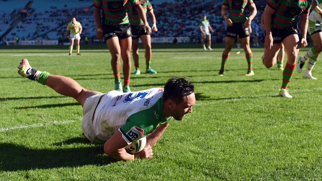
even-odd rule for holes
{"type": "Polygon", "coordinates": [[[313,11],[309,16],[309,34],[313,40],[314,46],[310,48],[304,56],[299,58],[296,68],[297,71],[301,73],[305,61],[309,59],[307,69],[304,71],[302,77],[316,80],[317,78],[312,76],[312,69],[322,51],[322,0],[313,0],[312,8],[313,11]]]}

